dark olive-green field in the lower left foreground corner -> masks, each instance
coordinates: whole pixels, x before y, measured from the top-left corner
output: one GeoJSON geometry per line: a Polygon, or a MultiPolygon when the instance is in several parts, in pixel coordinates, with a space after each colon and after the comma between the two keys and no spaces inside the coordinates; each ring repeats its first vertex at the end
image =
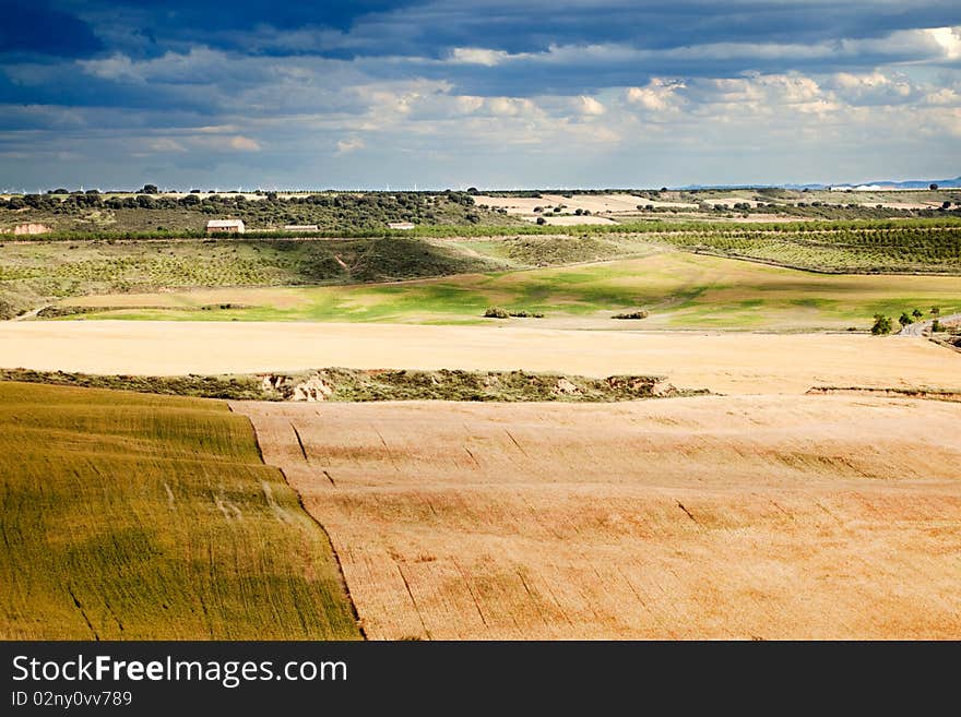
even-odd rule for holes
{"type": "Polygon", "coordinates": [[[0,637],[356,638],[323,533],[225,404],[0,383],[0,637]]]}

